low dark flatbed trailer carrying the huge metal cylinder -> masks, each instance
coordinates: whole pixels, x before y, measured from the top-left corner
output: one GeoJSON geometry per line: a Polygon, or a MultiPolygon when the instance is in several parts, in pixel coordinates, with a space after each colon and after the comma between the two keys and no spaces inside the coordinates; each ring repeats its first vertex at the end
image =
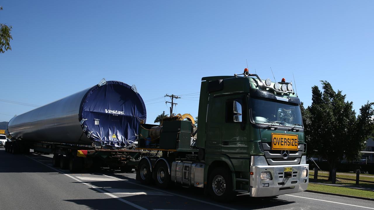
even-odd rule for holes
{"type": "Polygon", "coordinates": [[[69,169],[70,172],[100,167],[131,172],[137,168],[141,154],[144,153],[134,148],[135,145],[127,149],[103,149],[87,145],[22,141],[9,141],[5,145],[5,151],[12,154],[27,154],[30,149],[34,153],[53,154],[52,165],[69,169]]]}

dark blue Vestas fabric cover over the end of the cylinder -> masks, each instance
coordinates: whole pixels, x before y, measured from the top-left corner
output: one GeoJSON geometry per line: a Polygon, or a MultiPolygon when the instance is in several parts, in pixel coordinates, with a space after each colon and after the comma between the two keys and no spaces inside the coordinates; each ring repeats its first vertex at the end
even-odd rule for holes
{"type": "Polygon", "coordinates": [[[107,84],[92,87],[82,101],[82,128],[90,139],[101,145],[124,147],[135,141],[141,122],[147,112],[144,101],[128,84],[107,81],[107,84]]]}

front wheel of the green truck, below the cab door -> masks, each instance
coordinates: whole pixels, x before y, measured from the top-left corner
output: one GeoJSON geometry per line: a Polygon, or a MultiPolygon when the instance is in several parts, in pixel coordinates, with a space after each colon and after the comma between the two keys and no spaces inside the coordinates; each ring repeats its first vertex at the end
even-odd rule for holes
{"type": "Polygon", "coordinates": [[[207,187],[209,194],[216,201],[227,202],[235,198],[231,173],[224,167],[212,171],[207,187]]]}

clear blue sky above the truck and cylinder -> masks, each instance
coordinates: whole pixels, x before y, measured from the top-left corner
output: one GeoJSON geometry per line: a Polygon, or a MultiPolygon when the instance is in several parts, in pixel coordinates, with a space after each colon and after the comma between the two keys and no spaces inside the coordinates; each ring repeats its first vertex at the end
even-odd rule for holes
{"type": "MultiPolygon", "coordinates": [[[[264,79],[273,80],[270,67],[278,81],[294,72],[305,105],[319,80],[343,90],[356,112],[374,101],[374,1],[0,5],[0,22],[13,26],[12,51],[0,54],[0,99],[44,105],[103,77],[136,84],[144,100],[189,94],[199,92],[202,77],[241,73],[248,59],[249,71],[264,79]]],[[[178,99],[176,113],[197,116],[193,97],[178,99]]],[[[168,111],[163,98],[146,104],[148,123],[168,111]]],[[[0,121],[31,109],[0,102],[0,121]]]]}

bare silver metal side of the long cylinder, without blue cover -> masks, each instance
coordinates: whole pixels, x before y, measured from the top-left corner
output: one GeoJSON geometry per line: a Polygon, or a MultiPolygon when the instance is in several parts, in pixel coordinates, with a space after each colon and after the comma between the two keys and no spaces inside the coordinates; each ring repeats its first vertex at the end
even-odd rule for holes
{"type": "Polygon", "coordinates": [[[13,117],[9,134],[27,141],[91,145],[79,123],[80,106],[89,89],[13,117]]]}

